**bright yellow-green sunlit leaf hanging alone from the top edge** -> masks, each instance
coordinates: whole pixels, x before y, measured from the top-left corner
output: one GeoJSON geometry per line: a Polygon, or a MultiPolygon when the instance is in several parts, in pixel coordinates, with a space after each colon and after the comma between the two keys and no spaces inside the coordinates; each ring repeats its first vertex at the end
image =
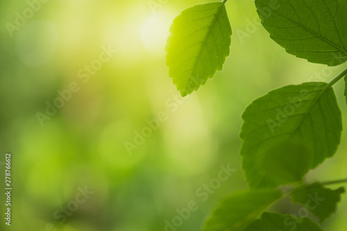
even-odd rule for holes
{"type": "Polygon", "coordinates": [[[188,8],[170,27],[165,48],[167,66],[182,96],[196,91],[221,71],[230,53],[232,31],[225,2],[188,8]]]}

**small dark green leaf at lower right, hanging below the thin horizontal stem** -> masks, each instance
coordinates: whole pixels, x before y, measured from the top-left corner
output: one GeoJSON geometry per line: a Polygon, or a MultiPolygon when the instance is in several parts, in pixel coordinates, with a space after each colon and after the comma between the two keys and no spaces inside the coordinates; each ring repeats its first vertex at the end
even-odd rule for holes
{"type": "Polygon", "coordinates": [[[312,185],[301,185],[291,192],[292,203],[301,203],[307,210],[317,216],[321,222],[335,212],[337,203],[341,200],[344,187],[332,190],[323,187],[319,182],[312,185]]]}

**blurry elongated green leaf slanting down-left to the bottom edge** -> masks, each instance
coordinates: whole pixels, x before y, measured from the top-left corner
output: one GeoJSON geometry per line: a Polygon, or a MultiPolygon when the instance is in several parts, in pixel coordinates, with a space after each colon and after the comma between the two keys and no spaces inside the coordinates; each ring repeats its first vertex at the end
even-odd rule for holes
{"type": "Polygon", "coordinates": [[[240,231],[266,208],[282,198],[282,191],[239,191],[219,203],[203,231],[240,231]]]}

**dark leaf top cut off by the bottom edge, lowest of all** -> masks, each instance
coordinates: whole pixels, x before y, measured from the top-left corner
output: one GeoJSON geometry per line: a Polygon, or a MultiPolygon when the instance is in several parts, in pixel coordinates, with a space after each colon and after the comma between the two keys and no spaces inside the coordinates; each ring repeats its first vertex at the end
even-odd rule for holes
{"type": "Polygon", "coordinates": [[[245,231],[323,231],[311,219],[289,214],[264,212],[260,219],[253,221],[245,231]]]}

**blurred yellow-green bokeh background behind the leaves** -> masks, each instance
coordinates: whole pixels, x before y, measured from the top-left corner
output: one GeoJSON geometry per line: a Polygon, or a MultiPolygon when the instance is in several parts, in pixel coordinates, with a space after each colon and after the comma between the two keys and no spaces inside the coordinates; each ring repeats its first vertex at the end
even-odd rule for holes
{"type": "MultiPolygon", "coordinates": [[[[12,225],[2,215],[1,230],[198,231],[221,198],[246,189],[238,155],[246,106],[270,89],[328,81],[343,67],[285,53],[255,23],[253,1],[230,0],[232,46],[223,71],[181,99],[168,76],[164,46],[172,20],[205,2],[57,0],[36,2],[31,11],[26,1],[0,2],[0,162],[12,153],[13,187],[12,225]],[[28,18],[10,33],[16,12],[28,18]],[[117,53],[84,83],[87,77],[79,78],[78,71],[98,60],[102,47],[117,53]],[[42,126],[37,112],[46,114],[46,102],[53,103],[71,83],[78,92],[42,126]],[[166,120],[127,151],[126,144],[134,144],[136,132],[159,112],[166,120]],[[204,189],[221,164],[229,164],[231,176],[204,189]],[[76,208],[85,187],[93,194],[76,208]],[[177,209],[191,201],[198,209],[168,228],[177,209]],[[67,206],[74,211],[62,215],[67,206]]],[[[347,124],[344,84],[337,83],[335,92],[347,124]]],[[[346,178],[346,152],[343,132],[335,157],[310,171],[307,180],[346,178]]],[[[1,193],[1,214],[5,199],[1,193]]],[[[285,200],[273,209],[297,214],[298,208],[285,200]]],[[[346,213],[344,196],[324,228],[345,231],[346,213]]]]}

